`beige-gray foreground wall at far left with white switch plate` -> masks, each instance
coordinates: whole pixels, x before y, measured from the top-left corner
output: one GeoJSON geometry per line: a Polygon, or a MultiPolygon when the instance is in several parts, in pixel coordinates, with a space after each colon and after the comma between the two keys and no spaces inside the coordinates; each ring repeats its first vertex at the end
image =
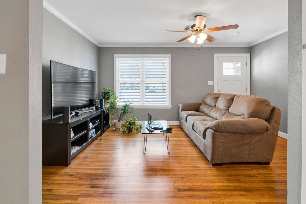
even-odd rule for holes
{"type": "Polygon", "coordinates": [[[29,1],[0,1],[0,203],[29,200],[29,1]],[[7,28],[7,29],[3,29],[7,28]]]}

